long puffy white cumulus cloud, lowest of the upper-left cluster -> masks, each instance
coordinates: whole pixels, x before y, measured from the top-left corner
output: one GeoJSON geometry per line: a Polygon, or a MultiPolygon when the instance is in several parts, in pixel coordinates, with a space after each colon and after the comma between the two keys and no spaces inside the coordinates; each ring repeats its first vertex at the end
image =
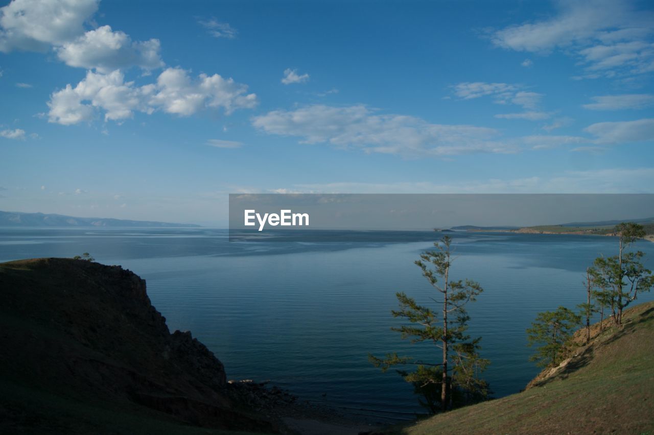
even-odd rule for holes
{"type": "Polygon", "coordinates": [[[104,112],[105,120],[131,118],[133,112],[151,114],[162,110],[169,114],[190,116],[205,108],[222,108],[231,114],[239,108],[252,108],[256,95],[247,93],[247,86],[218,74],[199,74],[194,79],[181,68],[168,68],[156,83],[135,86],[125,82],[120,70],[109,74],[88,71],[75,88],[68,84],[52,93],[48,120],[71,125],[92,120],[96,110],[104,112]]]}

